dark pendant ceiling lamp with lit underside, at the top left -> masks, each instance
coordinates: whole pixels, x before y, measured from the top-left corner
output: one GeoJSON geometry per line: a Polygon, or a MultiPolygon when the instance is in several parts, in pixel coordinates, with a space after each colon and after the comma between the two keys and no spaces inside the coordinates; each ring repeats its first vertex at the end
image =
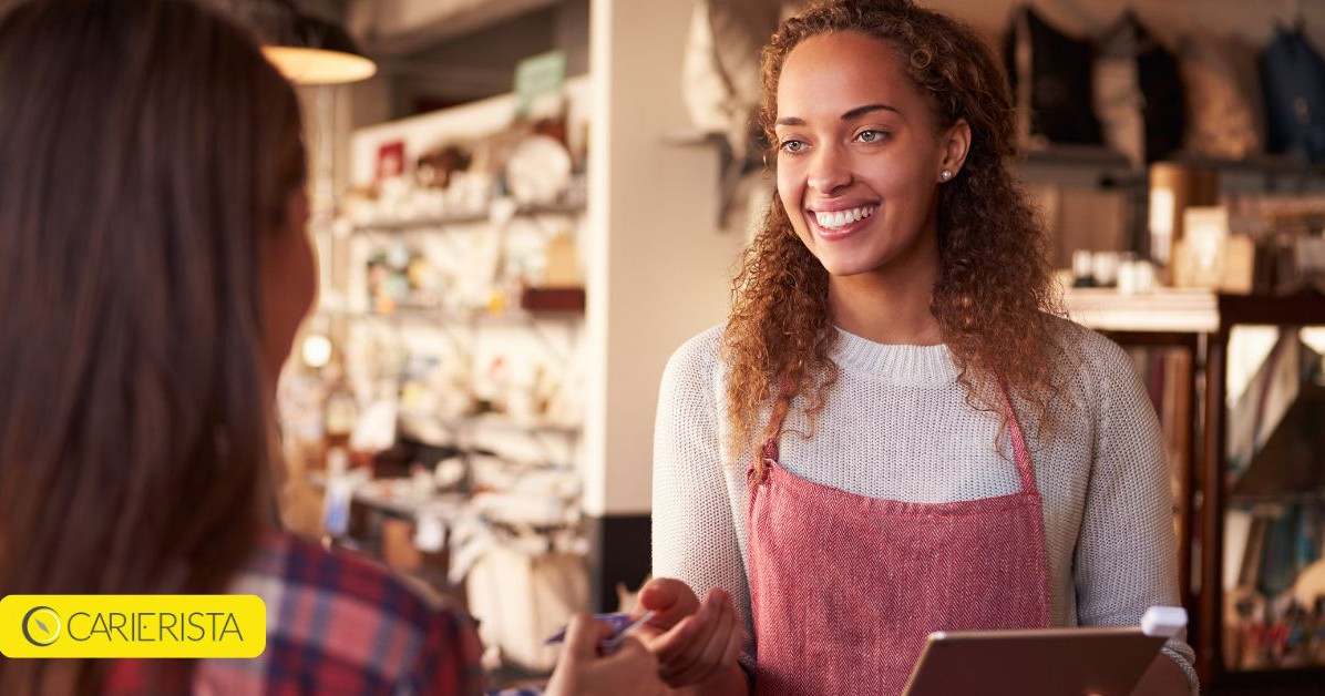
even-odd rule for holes
{"type": "Polygon", "coordinates": [[[253,0],[246,9],[262,53],[295,85],[342,85],[378,72],[343,28],[299,12],[290,0],[253,0]]]}

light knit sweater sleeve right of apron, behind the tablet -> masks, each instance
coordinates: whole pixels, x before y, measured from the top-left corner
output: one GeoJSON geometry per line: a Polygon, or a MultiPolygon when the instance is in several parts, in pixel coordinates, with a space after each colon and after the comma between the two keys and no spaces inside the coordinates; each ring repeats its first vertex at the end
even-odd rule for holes
{"type": "MultiPolygon", "coordinates": [[[[1169,464],[1154,407],[1126,353],[1093,338],[1084,366],[1093,374],[1084,382],[1097,430],[1075,554],[1077,612],[1083,626],[1134,626],[1153,605],[1179,606],[1169,464]]],[[[1192,651],[1183,636],[1165,654],[1195,695],[1192,651]]]]}

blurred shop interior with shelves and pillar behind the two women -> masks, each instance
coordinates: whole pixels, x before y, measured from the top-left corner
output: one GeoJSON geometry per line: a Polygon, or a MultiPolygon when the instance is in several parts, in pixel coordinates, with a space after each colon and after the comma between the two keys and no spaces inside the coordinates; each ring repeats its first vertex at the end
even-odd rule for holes
{"type": "MultiPolygon", "coordinates": [[[[322,282],[286,522],[466,606],[494,673],[545,672],[543,636],[649,571],[659,378],[767,202],[758,48],[795,4],[217,1],[330,49],[273,52],[322,282]]],[[[1150,386],[1203,683],[1318,688],[1325,1],[925,4],[1006,57],[1065,305],[1150,386]]]]}

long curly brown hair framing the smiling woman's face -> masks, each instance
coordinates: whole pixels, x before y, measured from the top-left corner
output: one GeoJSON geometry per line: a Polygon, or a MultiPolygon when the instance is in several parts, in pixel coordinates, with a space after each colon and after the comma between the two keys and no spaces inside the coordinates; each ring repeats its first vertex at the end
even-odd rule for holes
{"type": "MultiPolygon", "coordinates": [[[[1015,117],[1002,68],[969,27],[910,0],[819,5],[784,21],[763,49],[758,118],[770,143],[776,142],[778,80],[787,56],[806,38],[835,32],[860,32],[896,46],[914,86],[930,97],[937,127],[958,119],[970,125],[966,163],[938,191],[941,269],[930,310],[967,403],[1000,410],[999,384],[1006,384],[1030,403],[1036,432],[1051,432],[1048,402],[1059,388],[1048,369],[1057,351],[1049,322],[1060,313],[1059,296],[1040,224],[1007,167],[1016,154],[1015,117]]],[[[731,294],[722,339],[727,444],[754,445],[763,408],[772,418],[758,436],[775,437],[798,395],[812,428],[837,379],[829,359],[837,333],[828,273],[796,237],[776,191],[731,294]]]]}

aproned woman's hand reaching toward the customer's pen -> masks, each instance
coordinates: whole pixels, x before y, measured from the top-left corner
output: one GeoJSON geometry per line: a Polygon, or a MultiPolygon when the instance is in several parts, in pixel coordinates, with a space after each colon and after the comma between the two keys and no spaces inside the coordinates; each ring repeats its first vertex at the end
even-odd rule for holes
{"type": "Polygon", "coordinates": [[[704,603],[689,585],[653,578],[640,590],[640,610],[653,618],[640,628],[672,687],[698,684],[737,668],[743,632],[731,595],[709,590],[704,603]]]}

